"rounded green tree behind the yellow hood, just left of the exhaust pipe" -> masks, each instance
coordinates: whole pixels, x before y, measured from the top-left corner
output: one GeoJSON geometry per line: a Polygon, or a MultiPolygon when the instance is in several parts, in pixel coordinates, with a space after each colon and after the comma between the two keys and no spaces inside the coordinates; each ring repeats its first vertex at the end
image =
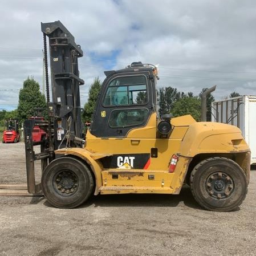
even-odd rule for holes
{"type": "Polygon", "coordinates": [[[196,121],[201,117],[201,100],[199,97],[186,96],[176,101],[173,105],[172,114],[174,117],[192,115],[196,121]]]}

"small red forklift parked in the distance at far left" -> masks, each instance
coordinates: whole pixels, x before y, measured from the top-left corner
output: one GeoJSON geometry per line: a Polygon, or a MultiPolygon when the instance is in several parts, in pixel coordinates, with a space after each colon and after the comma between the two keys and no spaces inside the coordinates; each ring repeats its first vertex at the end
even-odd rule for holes
{"type": "Polygon", "coordinates": [[[3,131],[3,143],[17,143],[20,137],[18,120],[6,120],[6,130],[3,131]]]}

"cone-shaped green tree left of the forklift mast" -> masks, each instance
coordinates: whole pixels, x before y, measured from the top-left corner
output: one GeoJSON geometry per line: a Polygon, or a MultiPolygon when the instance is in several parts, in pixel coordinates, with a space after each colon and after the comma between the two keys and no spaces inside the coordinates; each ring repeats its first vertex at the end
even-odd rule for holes
{"type": "Polygon", "coordinates": [[[35,108],[46,109],[46,99],[40,92],[39,83],[34,78],[27,78],[23,82],[23,88],[19,91],[18,119],[23,123],[29,115],[34,113],[35,108]]]}

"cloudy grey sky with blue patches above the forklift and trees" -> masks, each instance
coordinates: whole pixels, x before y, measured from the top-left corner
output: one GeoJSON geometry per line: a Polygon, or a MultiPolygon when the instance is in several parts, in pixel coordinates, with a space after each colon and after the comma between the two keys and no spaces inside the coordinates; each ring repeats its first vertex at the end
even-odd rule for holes
{"type": "Polygon", "coordinates": [[[0,9],[0,110],[18,105],[32,76],[42,90],[40,22],[61,21],[80,44],[83,107],[94,79],[141,61],[159,64],[158,87],[198,95],[217,85],[256,95],[256,1],[3,0],[0,9]]]}

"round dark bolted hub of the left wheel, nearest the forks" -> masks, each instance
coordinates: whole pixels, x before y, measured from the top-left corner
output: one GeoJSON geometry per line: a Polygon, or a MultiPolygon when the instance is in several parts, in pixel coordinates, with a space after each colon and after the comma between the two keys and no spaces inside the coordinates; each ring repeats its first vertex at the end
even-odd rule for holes
{"type": "Polygon", "coordinates": [[[56,175],[54,186],[60,194],[72,194],[78,189],[78,177],[70,170],[63,170],[56,175]]]}

